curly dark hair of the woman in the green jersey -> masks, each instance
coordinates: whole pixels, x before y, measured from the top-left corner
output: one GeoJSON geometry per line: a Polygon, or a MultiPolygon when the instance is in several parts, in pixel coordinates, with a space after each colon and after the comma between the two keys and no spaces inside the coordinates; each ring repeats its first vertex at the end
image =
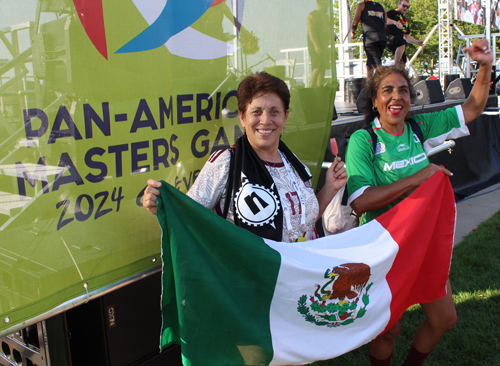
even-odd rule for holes
{"type": "Polygon", "coordinates": [[[389,76],[391,74],[399,74],[406,79],[406,81],[408,82],[408,87],[410,89],[410,96],[413,97],[413,84],[411,83],[410,77],[408,76],[408,71],[406,71],[404,66],[392,65],[378,67],[373,77],[366,81],[365,90],[362,96],[362,109],[365,115],[365,118],[363,120],[364,125],[369,125],[375,119],[375,117],[380,116],[378,111],[374,111],[372,109],[373,100],[377,98],[377,91],[380,88],[380,83],[382,82],[382,80],[386,76],[389,76]]]}

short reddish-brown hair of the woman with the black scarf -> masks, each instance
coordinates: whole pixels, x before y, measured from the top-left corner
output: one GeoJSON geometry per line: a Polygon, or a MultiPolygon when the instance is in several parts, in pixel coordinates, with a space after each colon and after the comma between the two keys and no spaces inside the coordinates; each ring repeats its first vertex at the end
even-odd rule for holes
{"type": "Polygon", "coordinates": [[[247,105],[255,96],[262,92],[276,93],[283,101],[285,111],[290,108],[290,91],[283,80],[267,72],[258,72],[247,76],[238,86],[236,98],[238,99],[238,110],[245,113],[247,105]]]}

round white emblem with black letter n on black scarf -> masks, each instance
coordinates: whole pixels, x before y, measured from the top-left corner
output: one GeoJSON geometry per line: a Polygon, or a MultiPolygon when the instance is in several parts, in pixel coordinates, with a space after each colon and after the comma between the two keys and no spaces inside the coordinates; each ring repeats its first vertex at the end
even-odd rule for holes
{"type": "Polygon", "coordinates": [[[253,184],[242,174],[242,185],[234,198],[234,209],[241,221],[251,226],[270,224],[274,227],[274,217],[280,207],[279,198],[272,189],[253,184]]]}

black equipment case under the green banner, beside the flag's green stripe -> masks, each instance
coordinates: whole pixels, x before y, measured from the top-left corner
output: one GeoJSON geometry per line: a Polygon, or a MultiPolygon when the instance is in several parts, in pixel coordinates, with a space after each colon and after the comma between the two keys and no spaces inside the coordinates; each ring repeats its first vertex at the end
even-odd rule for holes
{"type": "Polygon", "coordinates": [[[182,365],[180,347],[159,353],[161,273],[66,312],[72,366],[182,365]]]}

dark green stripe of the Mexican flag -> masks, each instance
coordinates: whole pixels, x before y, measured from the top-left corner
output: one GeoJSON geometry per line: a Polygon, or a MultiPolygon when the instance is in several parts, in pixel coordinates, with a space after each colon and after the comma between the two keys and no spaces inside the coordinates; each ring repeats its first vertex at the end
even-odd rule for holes
{"type": "Polygon", "coordinates": [[[181,344],[185,365],[268,364],[279,253],[167,183],[160,192],[160,347],[181,344]]]}

